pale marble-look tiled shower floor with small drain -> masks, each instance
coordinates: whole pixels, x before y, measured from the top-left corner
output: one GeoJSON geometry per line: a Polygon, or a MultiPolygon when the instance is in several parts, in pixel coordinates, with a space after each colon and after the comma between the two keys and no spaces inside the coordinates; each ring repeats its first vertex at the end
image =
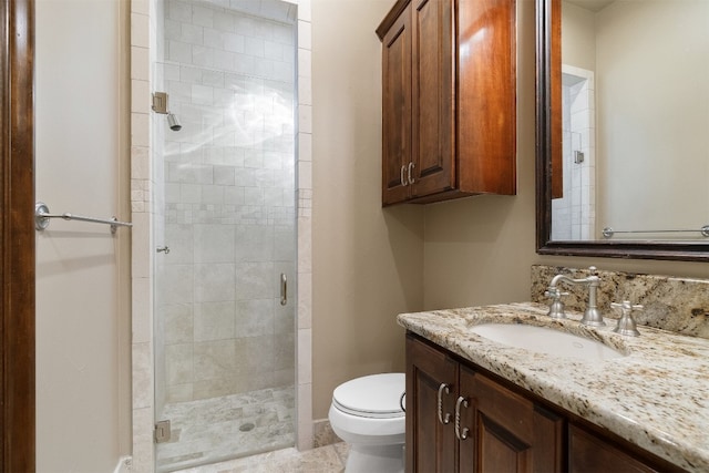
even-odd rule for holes
{"type": "MultiPolygon", "coordinates": [[[[157,445],[157,471],[171,472],[295,444],[295,389],[264,389],[167,404],[172,439],[157,445]]],[[[199,470],[197,470],[199,471],[199,470]]]]}

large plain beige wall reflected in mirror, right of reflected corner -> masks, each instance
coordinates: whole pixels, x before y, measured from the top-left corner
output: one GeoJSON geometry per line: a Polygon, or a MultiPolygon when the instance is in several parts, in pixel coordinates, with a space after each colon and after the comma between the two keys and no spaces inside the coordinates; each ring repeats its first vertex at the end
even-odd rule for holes
{"type": "Polygon", "coordinates": [[[709,222],[708,17],[702,1],[616,2],[596,16],[600,228],[709,222]]]}

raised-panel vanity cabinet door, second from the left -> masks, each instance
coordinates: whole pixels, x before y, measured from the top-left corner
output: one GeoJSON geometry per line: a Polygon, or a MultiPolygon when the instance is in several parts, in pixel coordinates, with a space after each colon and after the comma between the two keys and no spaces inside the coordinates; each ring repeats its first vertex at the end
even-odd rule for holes
{"type": "Polygon", "coordinates": [[[497,382],[461,367],[460,472],[562,471],[563,418],[497,382]]]}

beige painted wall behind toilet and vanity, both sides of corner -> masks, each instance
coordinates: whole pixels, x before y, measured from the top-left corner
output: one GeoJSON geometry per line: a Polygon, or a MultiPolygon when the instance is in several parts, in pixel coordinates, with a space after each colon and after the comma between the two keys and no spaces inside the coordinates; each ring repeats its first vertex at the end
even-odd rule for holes
{"type": "Polygon", "coordinates": [[[314,1],[315,419],[339,382],[402,368],[397,312],[528,300],[532,264],[709,277],[706,264],[536,254],[534,1],[517,3],[517,195],[382,210],[373,30],[393,1],[314,1]]]}

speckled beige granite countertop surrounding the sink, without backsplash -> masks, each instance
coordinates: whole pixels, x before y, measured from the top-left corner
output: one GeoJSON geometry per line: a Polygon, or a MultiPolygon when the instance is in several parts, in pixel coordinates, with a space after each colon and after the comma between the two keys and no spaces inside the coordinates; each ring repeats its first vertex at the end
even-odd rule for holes
{"type": "Polygon", "coordinates": [[[526,302],[401,313],[405,329],[689,471],[709,471],[709,340],[638,327],[640,337],[546,316],[526,302]],[[605,361],[558,358],[496,343],[470,330],[523,322],[603,341],[626,354],[605,361]]]}

